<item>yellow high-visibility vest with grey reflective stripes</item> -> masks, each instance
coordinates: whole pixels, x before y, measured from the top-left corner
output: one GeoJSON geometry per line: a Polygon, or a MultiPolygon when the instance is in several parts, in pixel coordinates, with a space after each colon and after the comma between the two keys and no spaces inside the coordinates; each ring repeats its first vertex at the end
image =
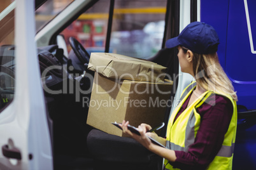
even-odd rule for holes
{"type": "MultiPolygon", "coordinates": [[[[181,106],[187,100],[192,89],[196,88],[196,82],[192,82],[186,89],[184,89],[180,98],[180,105],[175,108],[171,118],[169,119],[167,126],[167,142],[166,145],[171,150],[178,150],[183,152],[188,152],[190,145],[194,143],[196,138],[197,131],[200,126],[201,116],[196,112],[196,108],[200,107],[203,103],[208,102],[208,98],[212,95],[215,95],[212,91],[206,91],[203,95],[199,96],[190,106],[188,106],[184,112],[176,119],[173,123],[176,114],[180,110],[181,106]]],[[[236,110],[236,101],[228,95],[222,95],[229,100],[231,100],[233,105],[233,115],[231,123],[229,124],[229,129],[225,134],[224,142],[222,147],[218,151],[213,162],[211,162],[208,169],[232,169],[232,155],[234,153],[234,141],[236,138],[236,122],[237,122],[237,110],[236,110]]],[[[165,160],[164,164],[167,169],[173,169],[170,164],[167,164],[168,161],[165,160]]]]}

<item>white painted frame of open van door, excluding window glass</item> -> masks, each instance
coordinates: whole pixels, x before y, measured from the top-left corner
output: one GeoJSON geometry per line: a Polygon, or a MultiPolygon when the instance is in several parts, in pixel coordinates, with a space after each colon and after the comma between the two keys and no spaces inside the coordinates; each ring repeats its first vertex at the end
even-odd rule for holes
{"type": "Polygon", "coordinates": [[[15,96],[0,114],[0,146],[18,148],[22,159],[9,159],[0,152],[0,169],[53,169],[52,145],[34,41],[34,1],[19,0],[16,6],[15,96]]]}

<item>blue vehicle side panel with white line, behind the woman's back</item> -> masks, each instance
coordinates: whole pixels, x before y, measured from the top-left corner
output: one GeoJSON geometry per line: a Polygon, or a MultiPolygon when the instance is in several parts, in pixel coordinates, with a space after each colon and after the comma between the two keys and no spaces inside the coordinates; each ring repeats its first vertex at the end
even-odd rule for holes
{"type": "Polygon", "coordinates": [[[255,6],[253,0],[201,1],[201,21],[217,30],[219,60],[238,95],[233,169],[256,169],[255,6]]]}

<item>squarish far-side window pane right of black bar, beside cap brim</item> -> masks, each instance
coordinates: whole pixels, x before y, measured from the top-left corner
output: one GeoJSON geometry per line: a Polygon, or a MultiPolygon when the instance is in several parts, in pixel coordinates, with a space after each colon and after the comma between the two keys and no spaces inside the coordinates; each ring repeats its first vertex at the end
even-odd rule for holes
{"type": "Polygon", "coordinates": [[[162,47],[166,0],[115,1],[110,52],[150,58],[162,47]]]}

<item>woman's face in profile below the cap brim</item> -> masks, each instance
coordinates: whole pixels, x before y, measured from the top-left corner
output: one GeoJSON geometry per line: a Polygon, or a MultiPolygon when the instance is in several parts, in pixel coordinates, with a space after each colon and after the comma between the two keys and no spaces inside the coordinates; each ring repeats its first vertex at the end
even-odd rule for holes
{"type": "Polygon", "coordinates": [[[184,53],[183,49],[180,46],[178,46],[178,51],[178,59],[180,63],[181,72],[186,72],[189,74],[193,73],[193,70],[191,70],[191,63],[187,60],[188,52],[184,53]]]}

